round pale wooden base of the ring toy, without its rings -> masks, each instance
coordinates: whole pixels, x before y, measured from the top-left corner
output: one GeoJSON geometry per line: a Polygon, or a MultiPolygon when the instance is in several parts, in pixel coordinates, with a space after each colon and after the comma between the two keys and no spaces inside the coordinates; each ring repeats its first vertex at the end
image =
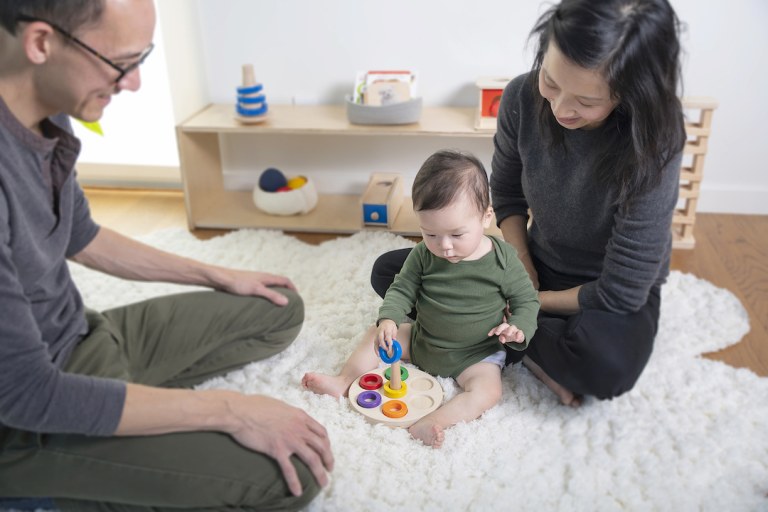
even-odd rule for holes
{"type": "MultiPolygon", "coordinates": [[[[386,384],[388,381],[384,377],[384,372],[389,368],[378,368],[369,373],[380,375],[386,384]]],[[[362,375],[360,376],[362,377],[362,375]]],[[[360,387],[360,378],[355,380],[349,387],[349,402],[360,414],[365,416],[369,423],[384,424],[389,427],[410,427],[418,420],[436,410],[443,403],[443,388],[433,376],[419,369],[408,367],[408,379],[403,381],[407,386],[407,392],[402,398],[389,398],[384,394],[383,386],[374,390],[381,395],[381,405],[375,408],[367,409],[357,403],[357,397],[364,390],[360,387]],[[381,407],[390,400],[400,400],[408,407],[408,414],[402,418],[390,418],[384,416],[381,407]]]]}

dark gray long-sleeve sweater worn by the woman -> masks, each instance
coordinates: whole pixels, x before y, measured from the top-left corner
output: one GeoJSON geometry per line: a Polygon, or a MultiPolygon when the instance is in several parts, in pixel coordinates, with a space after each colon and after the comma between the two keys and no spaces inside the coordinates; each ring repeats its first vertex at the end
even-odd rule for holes
{"type": "Polygon", "coordinates": [[[619,208],[616,187],[594,171],[609,128],[563,128],[565,149],[552,148],[542,140],[528,76],[509,83],[499,109],[490,180],[496,220],[530,207],[529,250],[582,283],[582,309],[637,311],[669,273],[682,153],[657,186],[619,208]]]}

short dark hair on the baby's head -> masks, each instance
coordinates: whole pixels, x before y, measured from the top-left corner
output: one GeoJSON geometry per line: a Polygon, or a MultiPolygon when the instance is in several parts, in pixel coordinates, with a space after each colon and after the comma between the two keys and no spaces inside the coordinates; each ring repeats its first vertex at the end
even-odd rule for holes
{"type": "Polygon", "coordinates": [[[469,153],[442,150],[422,164],[413,181],[413,209],[440,210],[451,204],[462,192],[485,213],[491,205],[488,175],[482,162],[469,153]]]}

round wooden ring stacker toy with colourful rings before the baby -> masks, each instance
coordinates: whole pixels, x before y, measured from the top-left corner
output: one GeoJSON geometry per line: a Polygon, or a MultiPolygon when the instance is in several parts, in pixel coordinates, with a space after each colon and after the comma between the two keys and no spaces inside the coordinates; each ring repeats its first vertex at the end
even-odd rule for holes
{"type": "Polygon", "coordinates": [[[361,375],[349,387],[352,407],[369,423],[410,427],[443,402],[443,389],[437,379],[417,368],[400,366],[402,354],[395,340],[391,354],[380,348],[379,356],[390,366],[361,375]]]}

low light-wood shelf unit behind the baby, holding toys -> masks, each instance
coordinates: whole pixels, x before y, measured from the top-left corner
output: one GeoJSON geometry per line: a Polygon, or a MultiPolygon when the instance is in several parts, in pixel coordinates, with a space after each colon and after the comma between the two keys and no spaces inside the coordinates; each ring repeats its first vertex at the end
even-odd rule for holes
{"type": "MultiPolygon", "coordinates": [[[[704,157],[711,132],[712,98],[683,98],[687,112],[698,111],[699,118],[686,122],[688,141],[684,153],[692,163],[684,163],[680,178],[682,206],[672,222],[674,247],[692,248],[696,205],[703,178],[704,157]]],[[[259,211],[250,191],[224,188],[219,138],[228,134],[343,135],[376,137],[467,137],[491,138],[493,131],[474,128],[476,109],[424,107],[419,123],[399,126],[360,126],[347,120],[344,106],[270,106],[268,117],[258,124],[242,124],[235,119],[231,104],[213,104],[192,116],[176,129],[187,223],[195,228],[267,228],[316,233],[355,233],[362,229],[387,229],[363,226],[360,197],[320,195],[317,207],[306,215],[274,216],[259,211]]],[[[389,231],[401,235],[420,234],[410,197],[389,231]]],[[[494,226],[490,233],[500,234],[494,226]]]]}

